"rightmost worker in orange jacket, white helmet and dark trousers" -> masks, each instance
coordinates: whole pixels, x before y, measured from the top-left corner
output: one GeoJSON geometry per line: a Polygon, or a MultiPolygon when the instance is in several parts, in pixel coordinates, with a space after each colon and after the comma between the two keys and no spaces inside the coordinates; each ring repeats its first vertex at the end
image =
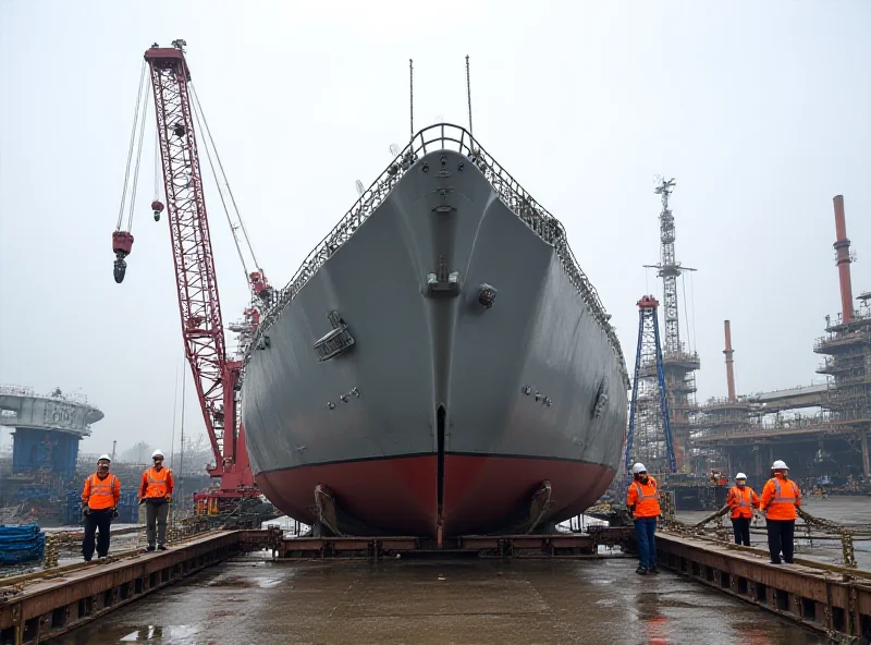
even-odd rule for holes
{"type": "Polygon", "coordinates": [[[781,552],[783,561],[792,564],[797,509],[801,507],[801,490],[795,482],[787,478],[789,468],[782,460],[778,459],[771,464],[771,471],[773,477],[765,483],[759,503],[759,508],[765,514],[769,553],[772,564],[781,563],[781,552]]]}

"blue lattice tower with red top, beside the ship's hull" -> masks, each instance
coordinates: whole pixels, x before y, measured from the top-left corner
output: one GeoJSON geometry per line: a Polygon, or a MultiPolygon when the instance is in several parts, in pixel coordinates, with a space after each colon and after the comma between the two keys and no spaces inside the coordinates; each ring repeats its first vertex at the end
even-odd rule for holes
{"type": "Polygon", "coordinates": [[[626,473],[639,461],[649,473],[674,473],[677,467],[657,319],[660,303],[646,295],[637,304],[638,348],[624,465],[626,473]]]}

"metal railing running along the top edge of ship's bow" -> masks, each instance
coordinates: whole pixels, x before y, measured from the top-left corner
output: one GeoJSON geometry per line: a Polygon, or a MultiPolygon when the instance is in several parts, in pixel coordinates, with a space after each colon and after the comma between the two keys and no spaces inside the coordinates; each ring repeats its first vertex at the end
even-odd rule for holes
{"type": "Polygon", "coordinates": [[[621,372],[626,388],[629,388],[629,375],[626,361],[617,340],[614,328],[609,322],[611,316],[605,312],[599,300],[596,288],[580,269],[577,259],[572,253],[565,238],[565,230],[560,221],[536,202],[520,184],[500,166],[466,131],[466,129],[450,123],[438,123],[420,130],[412,141],[366,190],[352,206],[345,216],[333,227],[323,240],[308,254],[299,269],[284,289],[278,290],[273,300],[266,308],[257,331],[257,338],[245,356],[245,362],[250,360],[256,348],[260,346],[262,334],[272,326],[291,301],[306,285],[321,266],[335,253],[359,227],[375,212],[376,208],[387,198],[402,177],[412,168],[421,155],[437,150],[454,150],[465,155],[471,163],[478,167],[484,178],[499,193],[502,202],[520,218],[539,238],[551,244],[560,257],[565,270],[578,295],[589,307],[592,316],[605,332],[608,340],[619,362],[621,372]]]}

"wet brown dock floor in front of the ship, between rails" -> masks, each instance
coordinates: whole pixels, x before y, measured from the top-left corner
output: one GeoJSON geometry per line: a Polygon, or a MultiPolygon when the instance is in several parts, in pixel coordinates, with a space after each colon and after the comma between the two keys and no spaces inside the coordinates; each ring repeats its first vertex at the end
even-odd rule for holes
{"type": "Polygon", "coordinates": [[[230,560],[56,645],[716,643],[829,641],[628,558],[263,562],[230,560]]]}

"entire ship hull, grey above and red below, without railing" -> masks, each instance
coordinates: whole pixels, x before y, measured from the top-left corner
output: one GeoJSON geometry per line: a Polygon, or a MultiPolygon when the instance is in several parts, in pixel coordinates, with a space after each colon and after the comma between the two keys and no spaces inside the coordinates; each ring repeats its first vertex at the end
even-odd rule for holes
{"type": "Polygon", "coordinates": [[[256,482],[291,516],[314,523],[326,485],[356,532],[491,532],[542,483],[542,521],[611,483],[619,348],[487,172],[450,150],[416,159],[261,328],[243,423],[256,482]],[[338,354],[319,361],[333,327],[338,354]]]}

